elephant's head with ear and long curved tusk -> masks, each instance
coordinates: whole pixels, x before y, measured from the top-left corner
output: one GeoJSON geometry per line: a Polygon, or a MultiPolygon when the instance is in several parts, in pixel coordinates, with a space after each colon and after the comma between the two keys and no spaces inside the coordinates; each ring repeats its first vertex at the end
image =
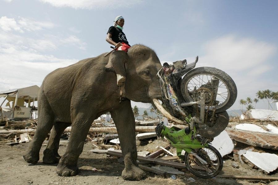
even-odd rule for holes
{"type": "Polygon", "coordinates": [[[154,50],[144,45],[133,45],[124,51],[115,51],[109,57],[106,67],[113,67],[115,71],[126,77],[123,97],[130,100],[152,103],[170,120],[183,124],[169,114],[158,102],[162,99],[158,71],[162,65],[154,50]]]}

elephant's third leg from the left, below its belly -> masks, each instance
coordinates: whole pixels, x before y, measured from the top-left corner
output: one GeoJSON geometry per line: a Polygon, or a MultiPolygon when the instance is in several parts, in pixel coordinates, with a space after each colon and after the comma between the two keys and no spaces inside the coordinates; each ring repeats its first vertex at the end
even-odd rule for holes
{"type": "Polygon", "coordinates": [[[77,175],[79,170],[77,167],[77,160],[82,153],[83,146],[94,116],[84,115],[85,110],[80,110],[76,116],[71,127],[70,141],[67,146],[65,154],[59,161],[56,172],[60,176],[74,176],[77,175]]]}

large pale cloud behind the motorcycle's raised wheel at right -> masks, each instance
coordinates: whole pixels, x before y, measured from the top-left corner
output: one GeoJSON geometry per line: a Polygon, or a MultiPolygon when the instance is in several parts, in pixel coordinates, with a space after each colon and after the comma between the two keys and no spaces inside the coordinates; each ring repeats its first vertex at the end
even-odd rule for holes
{"type": "Polygon", "coordinates": [[[232,77],[238,89],[238,98],[233,106],[235,109],[239,107],[239,99],[248,96],[255,98],[258,90],[272,89],[278,85],[272,79],[263,79],[261,76],[272,70],[267,61],[277,51],[274,45],[253,38],[227,35],[208,41],[204,44],[204,51],[197,67],[216,67],[232,77]]]}

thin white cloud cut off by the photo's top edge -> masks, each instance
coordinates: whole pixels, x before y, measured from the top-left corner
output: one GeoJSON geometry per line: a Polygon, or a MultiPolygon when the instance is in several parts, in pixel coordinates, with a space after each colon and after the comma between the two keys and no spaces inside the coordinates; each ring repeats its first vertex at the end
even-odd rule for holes
{"type": "Polygon", "coordinates": [[[44,3],[49,3],[56,7],[71,7],[74,9],[116,9],[126,8],[140,4],[141,0],[129,0],[129,1],[118,1],[118,0],[40,0],[44,3]]]}

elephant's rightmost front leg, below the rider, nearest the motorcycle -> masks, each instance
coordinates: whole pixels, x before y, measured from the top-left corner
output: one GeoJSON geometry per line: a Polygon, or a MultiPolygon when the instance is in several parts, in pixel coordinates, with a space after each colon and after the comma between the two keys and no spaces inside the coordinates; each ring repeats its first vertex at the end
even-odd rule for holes
{"type": "Polygon", "coordinates": [[[116,124],[120,139],[125,168],[122,177],[125,180],[141,180],[146,178],[137,163],[137,150],[135,139],[135,119],[129,100],[123,101],[117,110],[111,112],[111,116],[116,124]]]}

